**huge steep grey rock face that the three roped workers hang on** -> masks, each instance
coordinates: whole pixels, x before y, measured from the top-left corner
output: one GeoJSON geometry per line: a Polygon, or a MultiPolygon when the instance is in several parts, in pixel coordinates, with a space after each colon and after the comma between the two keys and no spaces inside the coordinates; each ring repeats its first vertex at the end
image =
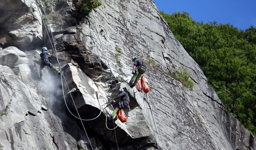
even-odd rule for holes
{"type": "MultiPolygon", "coordinates": [[[[75,4],[62,0],[55,13],[76,18],[70,11],[75,4]]],[[[32,0],[0,2],[10,12],[19,12],[19,5],[26,8],[19,15],[38,16],[32,0]]],[[[17,15],[9,17],[18,20],[17,15]]],[[[153,1],[104,1],[77,27],[51,24],[48,30],[65,80],[47,67],[39,79],[40,48],[19,46],[40,39],[41,21],[35,18],[14,30],[0,17],[1,35],[12,36],[0,47],[0,150],[91,150],[90,144],[94,150],[256,150],[253,136],[227,112],[153,1]],[[18,34],[22,36],[11,32],[25,27],[24,34],[18,34]],[[145,73],[148,94],[127,85],[134,55],[154,60],[145,73]],[[166,73],[175,74],[180,67],[191,74],[193,91],[166,73]],[[130,97],[125,123],[105,116],[113,112],[106,102],[117,96],[118,88],[130,97]]],[[[49,61],[58,66],[49,41],[47,47],[49,61]]]]}

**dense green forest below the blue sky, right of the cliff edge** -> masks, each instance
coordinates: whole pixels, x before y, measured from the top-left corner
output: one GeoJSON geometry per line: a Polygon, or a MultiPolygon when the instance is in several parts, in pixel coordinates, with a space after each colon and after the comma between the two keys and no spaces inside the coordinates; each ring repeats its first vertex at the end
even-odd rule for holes
{"type": "Polygon", "coordinates": [[[234,117],[256,135],[256,28],[195,22],[186,12],[161,12],[234,117]]]}

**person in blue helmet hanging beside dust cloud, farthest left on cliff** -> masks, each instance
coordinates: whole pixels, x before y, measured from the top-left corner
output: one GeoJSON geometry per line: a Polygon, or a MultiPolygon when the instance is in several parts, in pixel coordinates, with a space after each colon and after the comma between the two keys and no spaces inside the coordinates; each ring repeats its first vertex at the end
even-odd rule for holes
{"type": "Polygon", "coordinates": [[[50,53],[47,52],[47,47],[43,47],[42,53],[40,54],[40,57],[41,57],[41,65],[40,65],[40,71],[39,71],[40,78],[42,78],[43,76],[43,69],[46,65],[52,68],[52,70],[55,71],[57,74],[60,73],[60,71],[49,62],[47,55],[50,55],[50,53]]]}

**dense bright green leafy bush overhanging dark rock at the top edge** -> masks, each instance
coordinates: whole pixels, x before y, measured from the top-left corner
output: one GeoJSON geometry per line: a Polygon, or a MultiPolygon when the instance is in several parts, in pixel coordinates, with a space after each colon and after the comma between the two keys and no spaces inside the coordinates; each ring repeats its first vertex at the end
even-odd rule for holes
{"type": "Polygon", "coordinates": [[[78,4],[82,15],[87,15],[93,10],[93,8],[97,8],[102,5],[99,0],[79,0],[78,4]]]}

